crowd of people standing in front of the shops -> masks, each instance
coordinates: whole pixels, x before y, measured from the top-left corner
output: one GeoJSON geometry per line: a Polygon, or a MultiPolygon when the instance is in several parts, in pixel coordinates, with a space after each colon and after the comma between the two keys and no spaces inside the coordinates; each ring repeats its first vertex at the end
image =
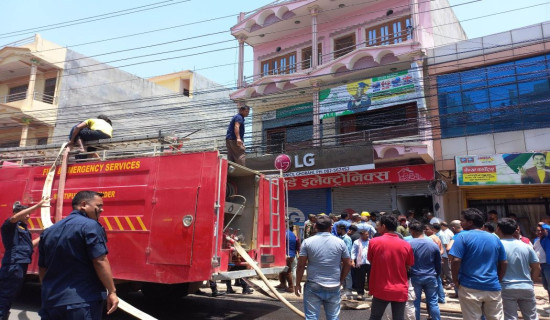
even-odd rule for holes
{"type": "Polygon", "coordinates": [[[318,319],[321,307],[338,319],[342,299],[372,298],[370,319],[418,320],[424,293],[436,320],[444,289],[464,319],[517,319],[518,310],[538,319],[534,281],[542,274],[548,291],[550,225],[539,223],[534,244],[521,229],[515,215],[475,208],[448,224],[427,211],[309,215],[294,292],[303,294],[306,319],[318,319]]]}

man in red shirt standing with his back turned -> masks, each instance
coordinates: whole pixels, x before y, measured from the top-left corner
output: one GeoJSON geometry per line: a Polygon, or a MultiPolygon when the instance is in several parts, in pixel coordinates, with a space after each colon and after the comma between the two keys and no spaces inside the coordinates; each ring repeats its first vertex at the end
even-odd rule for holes
{"type": "Polygon", "coordinates": [[[388,303],[394,320],[404,318],[409,287],[407,271],[414,265],[414,253],[411,245],[395,233],[396,229],[394,216],[382,216],[378,227],[381,236],[369,242],[369,289],[373,296],[370,320],[382,319],[388,303]]]}

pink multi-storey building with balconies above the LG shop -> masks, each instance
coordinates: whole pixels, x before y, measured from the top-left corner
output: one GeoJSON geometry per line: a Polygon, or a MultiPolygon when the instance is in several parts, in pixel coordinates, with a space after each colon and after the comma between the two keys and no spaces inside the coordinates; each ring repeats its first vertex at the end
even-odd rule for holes
{"type": "MultiPolygon", "coordinates": [[[[357,145],[377,169],[433,163],[423,61],[429,48],[466,38],[447,0],[276,1],[241,14],[231,32],[240,50],[230,97],[253,109],[249,157],[311,149],[334,158],[357,145]],[[245,45],[253,74],[243,71],[245,45]]],[[[289,201],[296,221],[347,209],[431,211],[431,197],[415,198],[429,195],[430,178],[301,190],[318,206],[293,203],[299,191],[289,201]]]]}

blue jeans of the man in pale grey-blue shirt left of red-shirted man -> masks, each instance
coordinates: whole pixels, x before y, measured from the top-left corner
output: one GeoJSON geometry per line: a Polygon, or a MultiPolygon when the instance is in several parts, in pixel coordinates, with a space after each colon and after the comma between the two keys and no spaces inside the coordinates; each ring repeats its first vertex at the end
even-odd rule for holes
{"type": "Polygon", "coordinates": [[[340,314],[340,286],[323,287],[315,282],[307,281],[304,286],[304,313],[306,320],[317,320],[325,308],[327,320],[338,320],[340,314]]]}

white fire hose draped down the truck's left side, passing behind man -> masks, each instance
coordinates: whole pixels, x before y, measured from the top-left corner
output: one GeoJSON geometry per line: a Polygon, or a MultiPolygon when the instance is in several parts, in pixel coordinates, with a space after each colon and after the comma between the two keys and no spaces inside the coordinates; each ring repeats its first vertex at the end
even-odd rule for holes
{"type": "MultiPolygon", "coordinates": [[[[52,194],[52,186],[53,186],[53,180],[55,178],[55,169],[57,165],[57,160],[61,155],[62,157],[62,163],[61,163],[61,175],[59,177],[59,187],[58,187],[58,193],[57,193],[57,206],[56,206],[56,215],[55,215],[55,222],[58,222],[61,220],[61,210],[63,208],[63,193],[65,192],[65,178],[66,178],[66,172],[67,172],[67,159],[69,150],[65,149],[67,146],[67,143],[64,143],[61,146],[61,149],[59,150],[59,153],[57,154],[57,157],[55,158],[52,166],[50,167],[50,171],[48,172],[48,175],[46,176],[46,181],[44,182],[44,187],[42,188],[42,199],[50,199],[51,201],[51,194],[52,194]]],[[[50,204],[44,204],[40,208],[40,218],[42,219],[42,225],[44,226],[44,229],[47,229],[53,225],[51,212],[50,212],[50,204]]],[[[156,318],[148,315],[147,313],[137,309],[136,307],[130,305],[128,302],[118,299],[118,308],[125,311],[126,313],[134,316],[137,319],[141,320],[157,320],[156,318]]]]}

